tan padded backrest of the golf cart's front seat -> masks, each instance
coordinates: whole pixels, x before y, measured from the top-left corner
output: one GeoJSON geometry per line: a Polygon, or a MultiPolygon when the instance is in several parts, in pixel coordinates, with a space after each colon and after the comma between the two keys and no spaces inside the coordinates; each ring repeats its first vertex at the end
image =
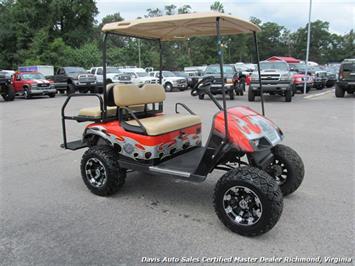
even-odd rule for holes
{"type": "Polygon", "coordinates": [[[113,88],[113,97],[117,106],[160,103],[165,100],[165,90],[160,84],[118,84],[113,88]]]}

